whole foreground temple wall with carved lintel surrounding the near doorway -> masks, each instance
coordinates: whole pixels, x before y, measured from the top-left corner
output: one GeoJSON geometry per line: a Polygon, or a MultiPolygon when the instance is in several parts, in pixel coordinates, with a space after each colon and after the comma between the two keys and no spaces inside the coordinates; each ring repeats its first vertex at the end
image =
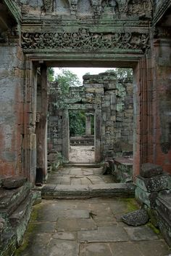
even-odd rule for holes
{"type": "MultiPolygon", "coordinates": [[[[171,172],[170,8],[170,0],[0,0],[0,212],[7,223],[21,201],[32,204],[36,170],[46,179],[48,66],[133,68],[134,179],[146,162],[171,172]],[[16,175],[28,183],[7,193],[4,177],[16,175]]],[[[168,198],[160,195],[160,217],[169,216],[168,198]]],[[[169,236],[167,217],[160,229],[169,236]]],[[[12,238],[4,240],[10,248],[12,238]]]]}

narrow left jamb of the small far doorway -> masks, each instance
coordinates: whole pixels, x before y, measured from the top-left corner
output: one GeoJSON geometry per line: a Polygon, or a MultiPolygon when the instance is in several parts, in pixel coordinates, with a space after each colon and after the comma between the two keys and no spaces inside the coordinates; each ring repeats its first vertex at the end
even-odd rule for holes
{"type": "Polygon", "coordinates": [[[62,114],[62,156],[69,160],[70,151],[70,121],[68,110],[65,109],[62,114]]]}

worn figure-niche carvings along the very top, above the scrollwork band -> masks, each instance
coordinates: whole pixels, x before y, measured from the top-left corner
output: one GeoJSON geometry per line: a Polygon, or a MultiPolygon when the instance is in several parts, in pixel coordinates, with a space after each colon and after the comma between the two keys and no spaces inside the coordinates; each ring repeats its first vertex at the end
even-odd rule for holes
{"type": "Polygon", "coordinates": [[[66,10],[67,15],[79,16],[81,12],[86,15],[89,12],[93,18],[101,15],[139,16],[151,18],[152,0],[43,0],[43,9],[46,12],[56,12],[60,15],[60,9],[66,10]],[[70,12],[68,12],[70,9],[70,12]]]}

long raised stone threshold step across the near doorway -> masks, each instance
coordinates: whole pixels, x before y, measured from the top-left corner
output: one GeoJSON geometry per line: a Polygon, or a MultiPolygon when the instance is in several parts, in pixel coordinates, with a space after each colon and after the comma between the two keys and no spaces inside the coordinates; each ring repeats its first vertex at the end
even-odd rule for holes
{"type": "Polygon", "coordinates": [[[41,189],[43,199],[90,199],[96,197],[134,197],[133,183],[107,183],[98,185],[47,184],[41,189]]]}

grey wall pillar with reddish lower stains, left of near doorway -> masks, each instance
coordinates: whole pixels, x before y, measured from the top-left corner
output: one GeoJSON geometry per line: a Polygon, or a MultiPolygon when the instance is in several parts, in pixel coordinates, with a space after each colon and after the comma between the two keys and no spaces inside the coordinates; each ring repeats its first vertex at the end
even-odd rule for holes
{"type": "Polygon", "coordinates": [[[25,175],[23,135],[24,55],[16,44],[0,43],[0,175],[25,175]]]}

